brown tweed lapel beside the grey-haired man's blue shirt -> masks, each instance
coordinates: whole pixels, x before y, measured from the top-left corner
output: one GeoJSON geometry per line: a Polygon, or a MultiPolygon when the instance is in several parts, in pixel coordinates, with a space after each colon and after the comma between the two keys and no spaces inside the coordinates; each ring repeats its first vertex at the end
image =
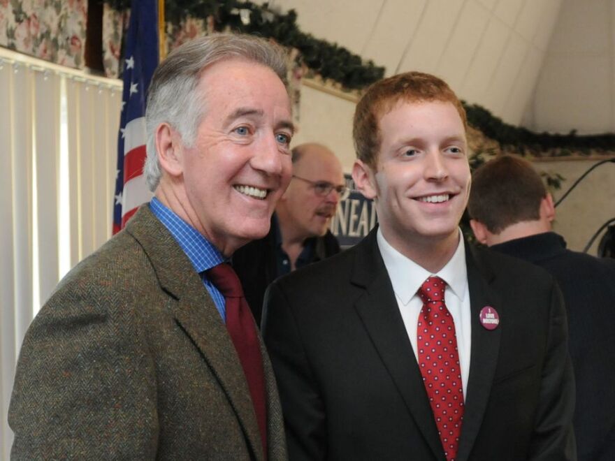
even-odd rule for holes
{"type": "Polygon", "coordinates": [[[161,288],[175,300],[170,307],[236,412],[254,458],[263,460],[263,448],[249,397],[247,381],[231,337],[201,277],[161,222],[144,205],[126,226],[150,258],[161,288]]]}

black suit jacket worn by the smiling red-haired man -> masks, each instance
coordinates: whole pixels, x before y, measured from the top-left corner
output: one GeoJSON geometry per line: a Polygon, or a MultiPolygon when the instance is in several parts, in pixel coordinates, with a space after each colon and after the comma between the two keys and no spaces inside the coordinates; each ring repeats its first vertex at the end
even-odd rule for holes
{"type": "MultiPolygon", "coordinates": [[[[574,460],[574,378],[546,272],[466,254],[472,351],[458,461],[574,460]],[[495,330],[479,323],[489,305],[495,330]]],[[[375,230],[275,281],[263,312],[294,460],[444,460],[375,230]]]]}

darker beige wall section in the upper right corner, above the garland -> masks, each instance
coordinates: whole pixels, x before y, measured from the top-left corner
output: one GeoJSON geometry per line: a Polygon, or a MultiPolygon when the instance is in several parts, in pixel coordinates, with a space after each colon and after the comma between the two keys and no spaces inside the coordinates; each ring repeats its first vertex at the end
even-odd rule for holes
{"type": "Polygon", "coordinates": [[[564,0],[523,124],[615,131],[615,0],[564,0]]]}

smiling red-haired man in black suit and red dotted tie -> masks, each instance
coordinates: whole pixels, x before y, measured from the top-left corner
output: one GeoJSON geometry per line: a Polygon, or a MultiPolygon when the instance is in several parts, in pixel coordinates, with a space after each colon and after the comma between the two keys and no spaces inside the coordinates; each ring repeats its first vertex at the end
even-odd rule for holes
{"type": "Polygon", "coordinates": [[[433,75],[396,75],[359,101],[354,138],[379,225],[266,294],[289,458],[575,460],[560,291],[458,227],[461,103],[433,75]]]}

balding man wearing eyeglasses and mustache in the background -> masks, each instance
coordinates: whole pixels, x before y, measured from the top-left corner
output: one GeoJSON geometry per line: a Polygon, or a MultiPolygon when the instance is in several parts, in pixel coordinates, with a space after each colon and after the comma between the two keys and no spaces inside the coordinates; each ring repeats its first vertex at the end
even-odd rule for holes
{"type": "Polygon", "coordinates": [[[272,281],[340,252],[329,231],[338,203],[348,193],[340,161],[324,145],[310,142],[293,149],[292,162],[293,177],[275,207],[268,235],[233,254],[233,268],[257,324],[272,281]]]}

